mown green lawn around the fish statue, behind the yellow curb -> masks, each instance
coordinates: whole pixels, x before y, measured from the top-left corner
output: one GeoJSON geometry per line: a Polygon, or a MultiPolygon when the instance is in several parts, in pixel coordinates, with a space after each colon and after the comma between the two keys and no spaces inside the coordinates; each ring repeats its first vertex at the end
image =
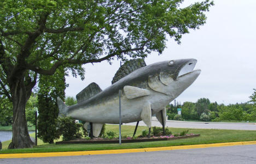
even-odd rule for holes
{"type": "MultiPolygon", "coordinates": [[[[132,136],[135,126],[122,125],[122,135],[132,136]]],[[[136,135],[141,135],[142,130],[147,130],[145,126],[138,126],[136,135]]],[[[182,128],[170,128],[172,133],[179,133],[187,130],[182,128]]],[[[117,133],[118,125],[106,125],[106,131],[112,130],[117,133]]],[[[85,151],[85,150],[110,150],[110,149],[131,149],[131,148],[149,148],[149,147],[166,147],[174,145],[190,144],[209,144],[239,141],[256,141],[256,131],[246,130],[215,130],[215,129],[189,129],[189,133],[200,133],[200,137],[177,139],[172,141],[155,141],[141,143],[123,143],[119,144],[43,144],[38,141],[38,146],[32,149],[7,149],[8,141],[3,142],[2,153],[39,153],[39,152],[57,152],[57,151],[85,151]]],[[[10,141],[9,141],[10,142],[10,141]]]]}

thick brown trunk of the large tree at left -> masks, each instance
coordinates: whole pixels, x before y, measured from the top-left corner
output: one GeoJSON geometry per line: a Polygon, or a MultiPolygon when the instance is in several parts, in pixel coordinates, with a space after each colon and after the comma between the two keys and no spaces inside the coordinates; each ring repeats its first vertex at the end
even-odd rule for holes
{"type": "Polygon", "coordinates": [[[30,139],[27,129],[25,107],[31,91],[26,92],[24,78],[16,78],[10,87],[13,98],[13,139],[8,149],[32,148],[34,143],[30,139]]]}

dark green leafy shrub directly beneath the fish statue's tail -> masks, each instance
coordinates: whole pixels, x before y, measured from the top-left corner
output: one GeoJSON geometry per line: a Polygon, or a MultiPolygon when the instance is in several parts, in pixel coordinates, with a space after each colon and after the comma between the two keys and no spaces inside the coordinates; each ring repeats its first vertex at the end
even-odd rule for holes
{"type": "Polygon", "coordinates": [[[58,121],[63,141],[82,138],[83,135],[82,132],[80,132],[80,127],[82,127],[83,124],[75,123],[75,120],[70,117],[59,117],[58,121]]]}

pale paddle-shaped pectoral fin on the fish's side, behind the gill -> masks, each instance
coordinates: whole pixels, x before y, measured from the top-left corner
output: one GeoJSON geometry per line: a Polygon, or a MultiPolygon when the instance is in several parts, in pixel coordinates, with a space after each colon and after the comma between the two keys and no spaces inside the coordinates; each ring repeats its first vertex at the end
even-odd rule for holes
{"type": "Polygon", "coordinates": [[[132,86],[124,86],[124,92],[127,99],[135,99],[141,96],[149,95],[149,91],[147,89],[141,89],[138,87],[132,86]]]}

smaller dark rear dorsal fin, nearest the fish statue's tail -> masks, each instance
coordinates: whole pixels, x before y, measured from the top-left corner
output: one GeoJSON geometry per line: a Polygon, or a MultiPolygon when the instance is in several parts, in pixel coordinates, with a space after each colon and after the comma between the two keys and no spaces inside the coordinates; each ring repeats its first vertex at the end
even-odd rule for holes
{"type": "Polygon", "coordinates": [[[84,88],[81,92],[79,92],[77,97],[77,102],[82,102],[84,100],[87,100],[91,98],[92,96],[96,95],[97,93],[100,93],[102,90],[96,83],[90,83],[86,88],[84,88]]]}

